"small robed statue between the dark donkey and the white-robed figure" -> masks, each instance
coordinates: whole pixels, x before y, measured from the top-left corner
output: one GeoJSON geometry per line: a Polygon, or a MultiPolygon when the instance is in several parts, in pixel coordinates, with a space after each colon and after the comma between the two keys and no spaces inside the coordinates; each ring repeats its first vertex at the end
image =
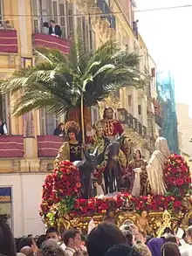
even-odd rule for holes
{"type": "Polygon", "coordinates": [[[128,164],[130,174],[130,192],[138,197],[147,196],[150,193],[150,185],[147,178],[147,162],[142,159],[140,149],[134,149],[133,158],[128,164]]]}

